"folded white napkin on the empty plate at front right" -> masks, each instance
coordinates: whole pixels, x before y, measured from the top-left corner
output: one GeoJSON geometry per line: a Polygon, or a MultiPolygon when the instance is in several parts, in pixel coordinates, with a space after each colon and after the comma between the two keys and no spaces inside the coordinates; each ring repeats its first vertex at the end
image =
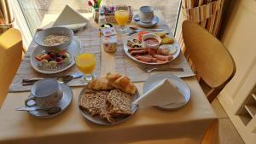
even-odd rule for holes
{"type": "Polygon", "coordinates": [[[148,92],[134,101],[134,104],[149,107],[165,106],[183,101],[185,101],[184,96],[178,91],[177,86],[165,78],[159,84],[156,84],[153,89],[148,90],[148,92]]]}

